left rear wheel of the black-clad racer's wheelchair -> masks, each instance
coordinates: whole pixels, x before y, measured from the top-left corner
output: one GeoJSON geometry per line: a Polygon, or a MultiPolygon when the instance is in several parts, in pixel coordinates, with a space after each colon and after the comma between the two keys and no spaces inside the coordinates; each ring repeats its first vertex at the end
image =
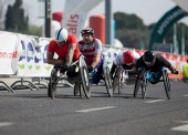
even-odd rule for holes
{"type": "Polygon", "coordinates": [[[140,71],[138,71],[138,74],[136,76],[136,81],[135,81],[135,87],[134,87],[134,97],[137,96],[137,93],[138,93],[138,90],[139,90],[139,86],[140,86],[140,81],[143,79],[143,75],[145,73],[145,69],[142,69],[140,71]]]}

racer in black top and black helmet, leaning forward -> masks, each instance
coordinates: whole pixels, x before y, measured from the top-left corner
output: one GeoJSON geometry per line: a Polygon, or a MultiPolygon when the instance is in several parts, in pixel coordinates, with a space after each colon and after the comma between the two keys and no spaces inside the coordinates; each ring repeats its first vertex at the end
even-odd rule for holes
{"type": "Polygon", "coordinates": [[[152,84],[159,82],[163,75],[161,68],[167,68],[173,74],[178,74],[178,71],[164,56],[155,54],[153,51],[146,51],[135,63],[133,73],[136,73],[139,68],[145,68],[146,71],[153,72],[150,80],[152,84]]]}

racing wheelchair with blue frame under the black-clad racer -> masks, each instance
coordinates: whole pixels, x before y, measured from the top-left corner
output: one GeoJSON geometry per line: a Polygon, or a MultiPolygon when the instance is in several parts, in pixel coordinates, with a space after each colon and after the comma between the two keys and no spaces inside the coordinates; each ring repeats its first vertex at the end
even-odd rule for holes
{"type": "MultiPolygon", "coordinates": [[[[166,92],[166,96],[168,100],[170,100],[170,81],[168,77],[168,72],[165,68],[160,68],[159,72],[152,72],[152,71],[146,71],[145,68],[138,69],[138,74],[136,77],[135,82],[135,87],[134,87],[134,97],[137,96],[139,87],[142,87],[142,98],[145,100],[146,97],[146,87],[149,83],[156,84],[158,82],[164,82],[164,87],[166,92]],[[161,74],[161,75],[160,75],[161,74]],[[156,80],[156,76],[161,76],[159,80],[156,80]]],[[[176,71],[174,74],[178,74],[178,71],[176,71]]]]}

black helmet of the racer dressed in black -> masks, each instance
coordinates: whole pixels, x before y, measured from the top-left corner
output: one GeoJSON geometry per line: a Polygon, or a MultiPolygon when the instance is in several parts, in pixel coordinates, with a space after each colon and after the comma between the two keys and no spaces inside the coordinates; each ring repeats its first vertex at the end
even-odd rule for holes
{"type": "Polygon", "coordinates": [[[156,55],[153,51],[146,51],[143,55],[143,60],[146,64],[154,64],[156,61],[156,55]]]}

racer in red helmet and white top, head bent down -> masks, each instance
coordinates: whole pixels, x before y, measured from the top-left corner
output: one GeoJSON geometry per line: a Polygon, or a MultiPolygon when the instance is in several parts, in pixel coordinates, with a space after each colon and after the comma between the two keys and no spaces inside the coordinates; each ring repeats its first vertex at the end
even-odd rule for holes
{"type": "Polygon", "coordinates": [[[125,50],[118,53],[113,61],[111,77],[113,79],[117,65],[122,65],[124,70],[132,70],[136,60],[138,60],[139,58],[140,55],[136,51],[125,50]]]}

